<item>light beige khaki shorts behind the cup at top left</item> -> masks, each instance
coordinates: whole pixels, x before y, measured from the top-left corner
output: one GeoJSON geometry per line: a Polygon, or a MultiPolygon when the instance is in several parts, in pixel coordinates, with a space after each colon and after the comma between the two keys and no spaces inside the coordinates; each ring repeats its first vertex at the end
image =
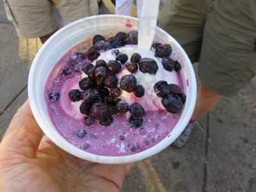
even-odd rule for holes
{"type": "Polygon", "coordinates": [[[63,26],[98,13],[96,0],[4,0],[4,6],[20,38],[36,38],[58,29],[53,6],[63,26]]]}

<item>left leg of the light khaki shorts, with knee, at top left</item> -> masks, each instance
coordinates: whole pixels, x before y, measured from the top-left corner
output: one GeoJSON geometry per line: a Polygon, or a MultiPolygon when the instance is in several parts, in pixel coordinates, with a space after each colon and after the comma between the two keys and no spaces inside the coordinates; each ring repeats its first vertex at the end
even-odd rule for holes
{"type": "Polygon", "coordinates": [[[53,17],[52,3],[48,0],[4,1],[8,19],[20,38],[42,37],[43,42],[58,29],[53,17]]]}

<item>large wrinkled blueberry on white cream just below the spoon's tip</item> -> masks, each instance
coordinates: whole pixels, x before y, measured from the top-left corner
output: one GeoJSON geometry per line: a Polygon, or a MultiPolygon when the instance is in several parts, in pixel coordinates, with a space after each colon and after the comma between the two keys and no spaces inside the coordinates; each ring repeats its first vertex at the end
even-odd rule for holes
{"type": "Polygon", "coordinates": [[[140,71],[143,73],[156,74],[158,70],[157,62],[152,58],[142,58],[139,62],[140,71]]]}

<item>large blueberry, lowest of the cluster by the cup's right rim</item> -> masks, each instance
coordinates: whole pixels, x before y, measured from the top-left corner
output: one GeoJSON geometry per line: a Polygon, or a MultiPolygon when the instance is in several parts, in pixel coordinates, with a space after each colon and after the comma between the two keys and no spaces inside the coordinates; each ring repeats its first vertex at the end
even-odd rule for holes
{"type": "Polygon", "coordinates": [[[168,95],[168,97],[164,97],[162,99],[162,104],[166,109],[166,111],[170,113],[179,113],[183,108],[183,105],[180,99],[173,95],[168,95]]]}

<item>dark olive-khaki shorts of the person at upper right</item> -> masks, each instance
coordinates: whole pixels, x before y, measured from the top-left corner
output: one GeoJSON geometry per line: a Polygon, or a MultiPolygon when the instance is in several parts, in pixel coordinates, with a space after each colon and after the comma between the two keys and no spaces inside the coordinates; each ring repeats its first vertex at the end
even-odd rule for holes
{"type": "Polygon", "coordinates": [[[163,0],[159,26],[199,61],[212,92],[235,95],[255,76],[255,0],[163,0]]]}

